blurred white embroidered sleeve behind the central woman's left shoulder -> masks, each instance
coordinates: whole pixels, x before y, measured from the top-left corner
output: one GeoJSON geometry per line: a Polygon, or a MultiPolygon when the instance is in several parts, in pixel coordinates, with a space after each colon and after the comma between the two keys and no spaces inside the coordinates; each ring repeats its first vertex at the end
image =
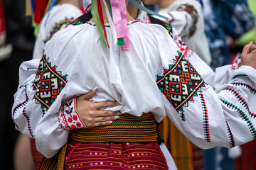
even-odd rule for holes
{"type": "Polygon", "coordinates": [[[82,13],[80,8],[73,4],[57,4],[53,6],[50,13],[46,13],[41,21],[33,50],[33,59],[41,59],[46,42],[48,42],[58,30],[68,26],[68,24],[75,18],[78,18],[78,16],[82,16],[82,13]]]}

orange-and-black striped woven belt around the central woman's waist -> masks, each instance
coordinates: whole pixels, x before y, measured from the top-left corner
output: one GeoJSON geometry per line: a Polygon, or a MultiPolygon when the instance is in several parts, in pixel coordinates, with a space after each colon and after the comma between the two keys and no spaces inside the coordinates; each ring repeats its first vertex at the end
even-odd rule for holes
{"type": "Polygon", "coordinates": [[[151,112],[140,117],[124,113],[111,125],[71,130],[70,137],[77,142],[156,142],[156,122],[151,112]]]}

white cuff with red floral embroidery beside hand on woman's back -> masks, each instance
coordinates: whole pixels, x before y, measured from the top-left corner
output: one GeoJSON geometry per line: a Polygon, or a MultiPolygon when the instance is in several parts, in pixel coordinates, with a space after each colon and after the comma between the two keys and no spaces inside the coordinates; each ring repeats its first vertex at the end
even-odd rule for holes
{"type": "Polygon", "coordinates": [[[60,128],[65,130],[73,130],[86,128],[85,124],[82,122],[80,115],[76,111],[76,98],[67,101],[63,106],[61,106],[58,117],[58,124],[60,128]]]}

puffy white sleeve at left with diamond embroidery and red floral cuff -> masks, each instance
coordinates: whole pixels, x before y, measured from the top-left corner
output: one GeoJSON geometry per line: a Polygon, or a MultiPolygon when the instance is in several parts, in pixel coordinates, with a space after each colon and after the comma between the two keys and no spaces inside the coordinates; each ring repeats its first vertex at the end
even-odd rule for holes
{"type": "Polygon", "coordinates": [[[53,157],[67,142],[68,130],[85,128],[75,108],[76,96],[65,96],[66,76],[71,73],[60,71],[54,61],[48,60],[50,49],[46,47],[41,60],[21,64],[12,108],[16,129],[35,138],[38,151],[46,157],[53,157]]]}

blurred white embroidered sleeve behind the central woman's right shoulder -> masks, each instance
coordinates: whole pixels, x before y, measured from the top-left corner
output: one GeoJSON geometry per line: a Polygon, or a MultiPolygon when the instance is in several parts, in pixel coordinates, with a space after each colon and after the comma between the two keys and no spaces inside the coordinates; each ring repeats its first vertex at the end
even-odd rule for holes
{"type": "Polygon", "coordinates": [[[169,23],[178,30],[186,45],[204,62],[210,64],[211,57],[204,32],[203,11],[198,1],[176,0],[167,8],[161,8],[158,13],[170,18],[169,23]]]}

